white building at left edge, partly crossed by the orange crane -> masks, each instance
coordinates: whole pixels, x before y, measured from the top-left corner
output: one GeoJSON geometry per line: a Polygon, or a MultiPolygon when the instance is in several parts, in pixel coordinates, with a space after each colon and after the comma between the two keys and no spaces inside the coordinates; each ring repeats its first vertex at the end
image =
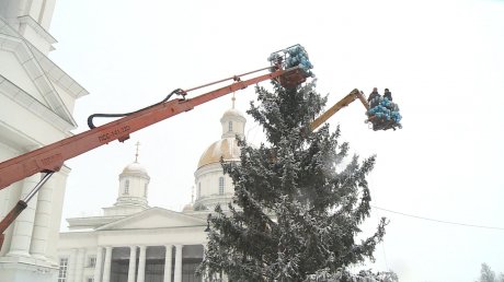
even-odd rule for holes
{"type": "MultiPolygon", "coordinates": [[[[53,62],[48,28],[56,0],[0,1],[0,162],[70,137],[75,103],[88,92],[53,62]]],[[[56,245],[69,167],[54,174],[4,232],[0,281],[55,281],[56,245]]],[[[0,190],[0,219],[41,180],[0,190]]]]}

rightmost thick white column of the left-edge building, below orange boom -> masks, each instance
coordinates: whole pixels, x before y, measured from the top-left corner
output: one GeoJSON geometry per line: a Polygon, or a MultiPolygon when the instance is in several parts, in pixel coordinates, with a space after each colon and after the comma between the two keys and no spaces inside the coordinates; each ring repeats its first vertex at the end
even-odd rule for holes
{"type": "Polygon", "coordinates": [[[54,178],[49,178],[49,180],[47,180],[47,183],[41,188],[38,191],[37,208],[35,210],[35,222],[33,224],[30,254],[32,254],[34,258],[42,260],[46,259],[50,213],[53,211],[54,185],[54,178]]]}

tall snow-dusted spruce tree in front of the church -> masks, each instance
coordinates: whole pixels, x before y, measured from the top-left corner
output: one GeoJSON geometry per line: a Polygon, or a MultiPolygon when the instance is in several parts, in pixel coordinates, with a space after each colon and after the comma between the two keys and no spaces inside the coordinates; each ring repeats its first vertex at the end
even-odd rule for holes
{"type": "Polygon", "coordinates": [[[316,82],[284,89],[256,86],[259,105],[247,111],[263,127],[267,142],[239,140],[239,163],[222,163],[234,185],[229,212],[217,207],[202,273],[225,272],[231,281],[303,281],[319,271],[336,273],[373,258],[385,234],[359,243],[360,223],[371,200],[367,174],[375,156],[346,157],[340,129],[310,122],[327,102],[316,82]]]}

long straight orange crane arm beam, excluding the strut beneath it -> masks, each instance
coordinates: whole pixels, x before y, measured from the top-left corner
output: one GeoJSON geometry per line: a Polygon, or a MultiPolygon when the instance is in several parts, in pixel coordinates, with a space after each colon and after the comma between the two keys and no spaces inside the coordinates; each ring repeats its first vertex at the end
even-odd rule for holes
{"type": "MultiPolygon", "coordinates": [[[[250,73],[251,72],[245,74],[250,73]]],[[[107,144],[114,140],[119,140],[123,142],[129,139],[129,134],[137,130],[151,126],[177,114],[191,110],[206,102],[213,101],[234,91],[245,89],[247,86],[256,84],[261,81],[273,80],[279,77],[283,77],[282,79],[300,78],[299,75],[296,75],[298,73],[300,73],[299,67],[294,67],[289,69],[277,68],[271,73],[259,75],[244,81],[241,81],[240,77],[240,77],[234,75],[231,78],[234,80],[234,82],[221,89],[210,91],[190,99],[175,98],[165,102],[163,101],[162,103],[158,103],[151,107],[131,113],[124,118],[92,128],[82,133],[8,160],[3,163],[0,163],[0,189],[3,189],[11,184],[36,173],[57,172],[62,166],[64,162],[69,158],[85,153],[98,146],[107,144]]],[[[203,86],[211,84],[206,84],[203,86]]],[[[185,95],[186,92],[195,89],[180,91],[177,94],[185,95]]]]}

